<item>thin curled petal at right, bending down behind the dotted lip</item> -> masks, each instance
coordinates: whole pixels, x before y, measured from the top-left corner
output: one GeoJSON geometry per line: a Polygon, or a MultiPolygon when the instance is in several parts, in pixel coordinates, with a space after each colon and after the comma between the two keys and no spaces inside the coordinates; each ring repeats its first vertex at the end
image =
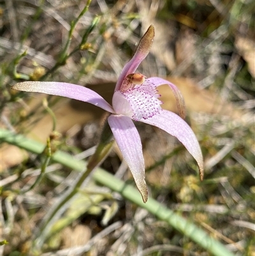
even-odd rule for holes
{"type": "Polygon", "coordinates": [[[182,96],[182,93],[180,93],[179,89],[177,88],[177,86],[175,86],[168,80],[161,79],[160,77],[150,77],[149,79],[146,79],[145,82],[150,82],[154,84],[156,87],[162,86],[163,84],[167,84],[168,86],[170,86],[177,102],[177,109],[180,117],[182,117],[182,119],[186,117],[186,107],[185,107],[184,98],[182,96]]]}

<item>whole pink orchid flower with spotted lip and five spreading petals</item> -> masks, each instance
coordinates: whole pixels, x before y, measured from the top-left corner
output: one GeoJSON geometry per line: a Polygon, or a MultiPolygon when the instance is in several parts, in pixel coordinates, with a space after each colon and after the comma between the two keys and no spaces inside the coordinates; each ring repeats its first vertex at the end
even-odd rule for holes
{"type": "Polygon", "coordinates": [[[141,73],[135,73],[138,65],[149,54],[154,39],[154,26],[150,26],[140,40],[132,59],[120,73],[112,98],[112,106],[98,93],[83,86],[64,82],[20,82],[13,89],[27,92],[47,93],[64,96],[83,102],[89,102],[108,112],[108,124],[119,146],[124,160],[128,163],[136,186],[143,202],[148,199],[145,183],[145,165],[142,152],[142,142],[136,130],[134,121],[151,124],[177,137],[194,157],[203,179],[203,156],[198,140],[189,125],[182,119],[185,117],[185,106],[182,94],[174,84],[159,77],[147,78],[141,73]],[[177,100],[180,116],[163,110],[157,87],[168,84],[177,100]]]}

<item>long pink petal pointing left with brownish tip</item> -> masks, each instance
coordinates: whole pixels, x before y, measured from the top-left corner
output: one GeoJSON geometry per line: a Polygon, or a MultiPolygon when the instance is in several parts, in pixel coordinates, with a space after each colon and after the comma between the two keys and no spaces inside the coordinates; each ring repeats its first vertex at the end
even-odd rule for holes
{"type": "Polygon", "coordinates": [[[77,84],[64,82],[20,82],[15,84],[12,89],[33,93],[47,93],[51,95],[64,96],[82,102],[88,102],[110,113],[114,113],[112,106],[106,102],[98,93],[77,84]]]}

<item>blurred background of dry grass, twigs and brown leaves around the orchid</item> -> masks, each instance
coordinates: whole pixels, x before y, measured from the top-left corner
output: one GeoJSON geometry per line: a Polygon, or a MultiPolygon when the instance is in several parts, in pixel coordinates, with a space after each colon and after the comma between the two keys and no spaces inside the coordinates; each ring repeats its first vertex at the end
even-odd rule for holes
{"type": "MultiPolygon", "coordinates": [[[[86,3],[0,1],[1,128],[45,145],[51,134],[53,152],[89,158],[105,120],[103,110],[11,86],[24,80],[70,82],[111,102],[119,73],[153,24],[154,43],[138,72],[179,87],[186,121],[203,152],[205,179],[200,181],[196,163],[177,140],[136,123],[150,197],[207,230],[235,255],[255,255],[255,2],[92,0],[80,15],[86,3]]],[[[163,108],[176,112],[171,90],[162,86],[159,92],[163,108]]],[[[1,144],[0,232],[1,241],[8,241],[0,247],[3,255],[33,255],[34,236],[43,236],[38,225],[77,176],[50,162],[40,184],[27,190],[43,157],[1,144]]],[[[134,184],[117,146],[101,166],[134,184]]],[[[94,181],[54,225],[37,255],[210,255],[94,181]],[[108,227],[114,228],[108,232],[108,227]],[[84,245],[89,246],[80,254],[57,254],[84,245]]]]}

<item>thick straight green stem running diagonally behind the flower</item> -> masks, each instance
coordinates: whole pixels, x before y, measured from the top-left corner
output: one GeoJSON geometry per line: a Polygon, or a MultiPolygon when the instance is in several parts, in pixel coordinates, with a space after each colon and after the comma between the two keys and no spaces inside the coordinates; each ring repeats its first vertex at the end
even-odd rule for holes
{"type": "MultiPolygon", "coordinates": [[[[0,130],[0,140],[37,154],[41,153],[44,148],[43,144],[39,142],[27,139],[22,135],[13,134],[3,129],[0,130]]],[[[75,160],[75,158],[71,157],[69,154],[61,151],[55,153],[52,156],[52,160],[78,171],[84,170],[84,166],[86,165],[84,161],[75,160]]],[[[164,220],[171,225],[171,227],[184,234],[184,236],[189,237],[189,239],[200,245],[207,252],[210,252],[215,256],[233,256],[233,253],[228,251],[222,243],[213,237],[210,237],[207,232],[200,229],[200,227],[197,227],[193,222],[190,222],[182,216],[174,213],[171,209],[168,209],[156,200],[149,198],[147,203],[143,204],[138,190],[133,186],[120,181],[105,170],[97,168],[96,172],[93,174],[93,178],[98,183],[111,188],[115,192],[119,192],[124,198],[137,204],[143,209],[147,209],[147,211],[156,216],[156,218],[164,220]]]]}

